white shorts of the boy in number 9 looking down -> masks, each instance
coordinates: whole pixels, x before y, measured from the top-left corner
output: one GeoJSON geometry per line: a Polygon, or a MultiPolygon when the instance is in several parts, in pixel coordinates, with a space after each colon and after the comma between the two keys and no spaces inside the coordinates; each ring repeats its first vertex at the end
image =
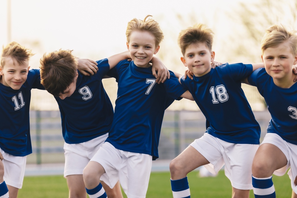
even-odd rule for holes
{"type": "Polygon", "coordinates": [[[64,177],[66,178],[68,175],[82,175],[83,169],[102,146],[107,137],[108,133],[78,144],[68,144],[65,142],[64,177]]]}

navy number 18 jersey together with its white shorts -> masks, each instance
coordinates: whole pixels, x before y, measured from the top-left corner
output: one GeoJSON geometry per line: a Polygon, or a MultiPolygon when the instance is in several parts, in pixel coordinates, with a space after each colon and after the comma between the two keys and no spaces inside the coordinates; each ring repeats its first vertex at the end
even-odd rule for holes
{"type": "Polygon", "coordinates": [[[190,145],[210,162],[205,167],[213,174],[225,164],[232,186],[242,190],[252,189],[252,160],[260,143],[260,126],[241,89],[241,79],[251,73],[251,64],[227,63],[181,79],[210,124],[190,145]]]}

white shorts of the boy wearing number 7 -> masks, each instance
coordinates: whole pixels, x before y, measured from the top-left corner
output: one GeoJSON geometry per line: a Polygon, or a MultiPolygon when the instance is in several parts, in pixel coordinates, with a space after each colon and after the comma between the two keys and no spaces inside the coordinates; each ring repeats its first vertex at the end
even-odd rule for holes
{"type": "Polygon", "coordinates": [[[90,161],[103,166],[105,173],[100,180],[110,188],[120,181],[127,197],[146,197],[151,174],[151,155],[122,151],[105,142],[90,161]]]}

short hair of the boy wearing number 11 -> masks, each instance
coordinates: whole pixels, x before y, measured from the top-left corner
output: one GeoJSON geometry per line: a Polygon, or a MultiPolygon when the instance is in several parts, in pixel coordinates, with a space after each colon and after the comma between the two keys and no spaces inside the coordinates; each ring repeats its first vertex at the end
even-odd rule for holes
{"type": "Polygon", "coordinates": [[[2,55],[0,66],[3,67],[5,64],[5,59],[10,57],[13,58],[18,64],[23,64],[25,61],[28,61],[31,56],[34,54],[31,50],[26,47],[21,46],[17,42],[11,42],[6,47],[2,47],[2,55]]]}

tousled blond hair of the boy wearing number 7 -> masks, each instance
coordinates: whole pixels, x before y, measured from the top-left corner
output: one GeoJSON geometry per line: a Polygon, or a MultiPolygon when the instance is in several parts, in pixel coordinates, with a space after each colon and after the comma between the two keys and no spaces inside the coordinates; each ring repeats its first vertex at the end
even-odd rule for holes
{"type": "Polygon", "coordinates": [[[153,19],[148,19],[149,17],[152,17],[152,15],[146,15],[144,20],[134,18],[128,22],[126,30],[128,43],[130,41],[130,35],[132,31],[148,31],[149,33],[154,35],[156,47],[160,45],[160,43],[164,39],[164,34],[159,26],[159,23],[157,23],[157,21],[153,19]]]}

